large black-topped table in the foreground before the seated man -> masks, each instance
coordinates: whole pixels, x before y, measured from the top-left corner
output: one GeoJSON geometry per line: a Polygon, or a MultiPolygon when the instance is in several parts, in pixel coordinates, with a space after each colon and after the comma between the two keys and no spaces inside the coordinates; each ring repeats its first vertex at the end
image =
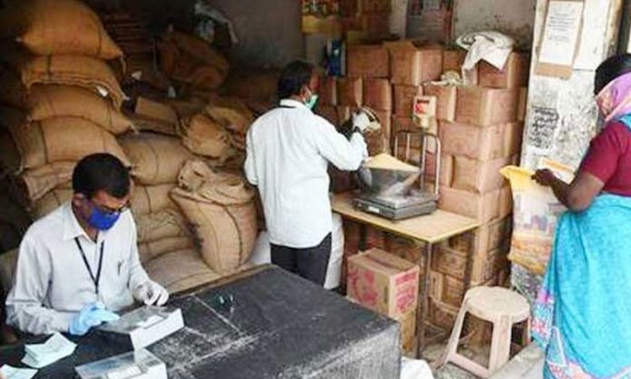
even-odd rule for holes
{"type": "MultiPolygon", "coordinates": [[[[148,350],[171,379],[398,378],[399,326],[280,267],[256,267],[173,296],[186,327],[148,350]],[[221,307],[217,296],[233,296],[221,307]]],[[[39,378],[74,378],[74,367],[125,353],[129,346],[90,332],[69,336],[74,354],[39,378]]],[[[34,337],[41,341],[42,337],[34,337]]],[[[39,342],[38,341],[38,342],[39,342]]],[[[24,345],[0,347],[0,365],[22,366],[24,345]]]]}

